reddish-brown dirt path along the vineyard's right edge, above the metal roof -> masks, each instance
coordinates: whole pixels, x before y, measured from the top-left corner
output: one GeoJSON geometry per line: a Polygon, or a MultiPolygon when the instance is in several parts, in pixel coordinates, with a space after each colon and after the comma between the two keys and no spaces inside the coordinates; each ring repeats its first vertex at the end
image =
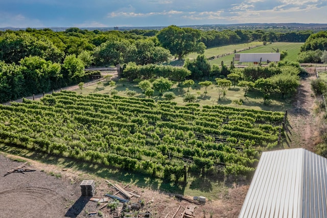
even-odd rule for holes
{"type": "Polygon", "coordinates": [[[314,151],[319,138],[319,116],[314,114],[316,98],[311,90],[311,81],[316,79],[315,68],[307,68],[308,77],[301,81],[295,95],[292,110],[288,112],[286,136],[288,147],[304,147],[314,151]]]}

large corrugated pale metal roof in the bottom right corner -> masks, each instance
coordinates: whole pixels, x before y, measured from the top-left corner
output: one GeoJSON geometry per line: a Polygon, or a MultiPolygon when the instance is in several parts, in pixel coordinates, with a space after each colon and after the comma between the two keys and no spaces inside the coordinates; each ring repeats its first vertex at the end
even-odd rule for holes
{"type": "Polygon", "coordinates": [[[327,217],[327,159],[304,148],[263,152],[239,217],[327,217]]]}

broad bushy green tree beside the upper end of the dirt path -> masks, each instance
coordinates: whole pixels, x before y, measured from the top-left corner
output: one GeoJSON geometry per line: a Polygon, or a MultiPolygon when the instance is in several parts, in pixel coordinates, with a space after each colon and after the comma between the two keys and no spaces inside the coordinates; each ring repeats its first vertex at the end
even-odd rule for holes
{"type": "Polygon", "coordinates": [[[282,94],[282,98],[288,93],[295,92],[300,85],[299,77],[289,72],[274,75],[270,78],[270,81],[277,89],[277,92],[282,94]]]}

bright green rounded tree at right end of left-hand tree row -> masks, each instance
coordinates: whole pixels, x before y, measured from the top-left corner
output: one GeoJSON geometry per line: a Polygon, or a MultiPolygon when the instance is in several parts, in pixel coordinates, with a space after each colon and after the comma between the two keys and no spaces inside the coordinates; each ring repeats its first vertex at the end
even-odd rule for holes
{"type": "Polygon", "coordinates": [[[63,68],[70,78],[81,78],[84,76],[84,62],[75,54],[68,55],[63,61],[63,68]]]}

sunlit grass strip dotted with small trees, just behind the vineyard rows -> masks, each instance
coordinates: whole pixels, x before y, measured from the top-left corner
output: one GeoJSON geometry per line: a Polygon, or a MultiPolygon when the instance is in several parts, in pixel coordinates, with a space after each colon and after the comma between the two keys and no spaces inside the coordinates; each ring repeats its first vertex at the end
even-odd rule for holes
{"type": "MultiPolygon", "coordinates": [[[[258,91],[250,91],[247,94],[247,97],[244,97],[244,91],[238,86],[231,86],[227,91],[227,95],[224,99],[219,99],[217,86],[211,85],[207,88],[207,93],[204,93],[204,88],[202,88],[198,82],[195,81],[196,84],[190,88],[190,93],[197,96],[196,103],[200,105],[217,105],[223,104],[227,106],[236,106],[232,103],[233,100],[243,100],[243,105],[237,105],[237,107],[246,107],[253,108],[257,110],[266,110],[266,111],[285,111],[290,105],[291,102],[288,99],[281,99],[280,95],[273,95],[271,103],[269,105],[265,105],[263,102],[262,93],[258,91]]],[[[213,81],[216,84],[215,81],[213,81]]],[[[145,95],[142,94],[142,90],[137,87],[136,82],[116,82],[115,86],[105,85],[105,83],[93,84],[86,86],[82,90],[83,95],[87,95],[89,93],[100,93],[100,94],[110,94],[111,90],[117,90],[120,96],[127,96],[126,89],[132,90],[136,92],[134,97],[145,98],[145,95]]],[[[183,102],[183,95],[187,92],[188,88],[178,86],[177,83],[173,84],[172,89],[170,91],[174,92],[176,98],[173,101],[176,101],[180,105],[186,104],[183,102]]],[[[80,93],[80,90],[76,90],[77,93],[80,93]]],[[[155,100],[164,100],[161,96],[158,95],[157,92],[154,93],[153,98],[155,100]]]]}

